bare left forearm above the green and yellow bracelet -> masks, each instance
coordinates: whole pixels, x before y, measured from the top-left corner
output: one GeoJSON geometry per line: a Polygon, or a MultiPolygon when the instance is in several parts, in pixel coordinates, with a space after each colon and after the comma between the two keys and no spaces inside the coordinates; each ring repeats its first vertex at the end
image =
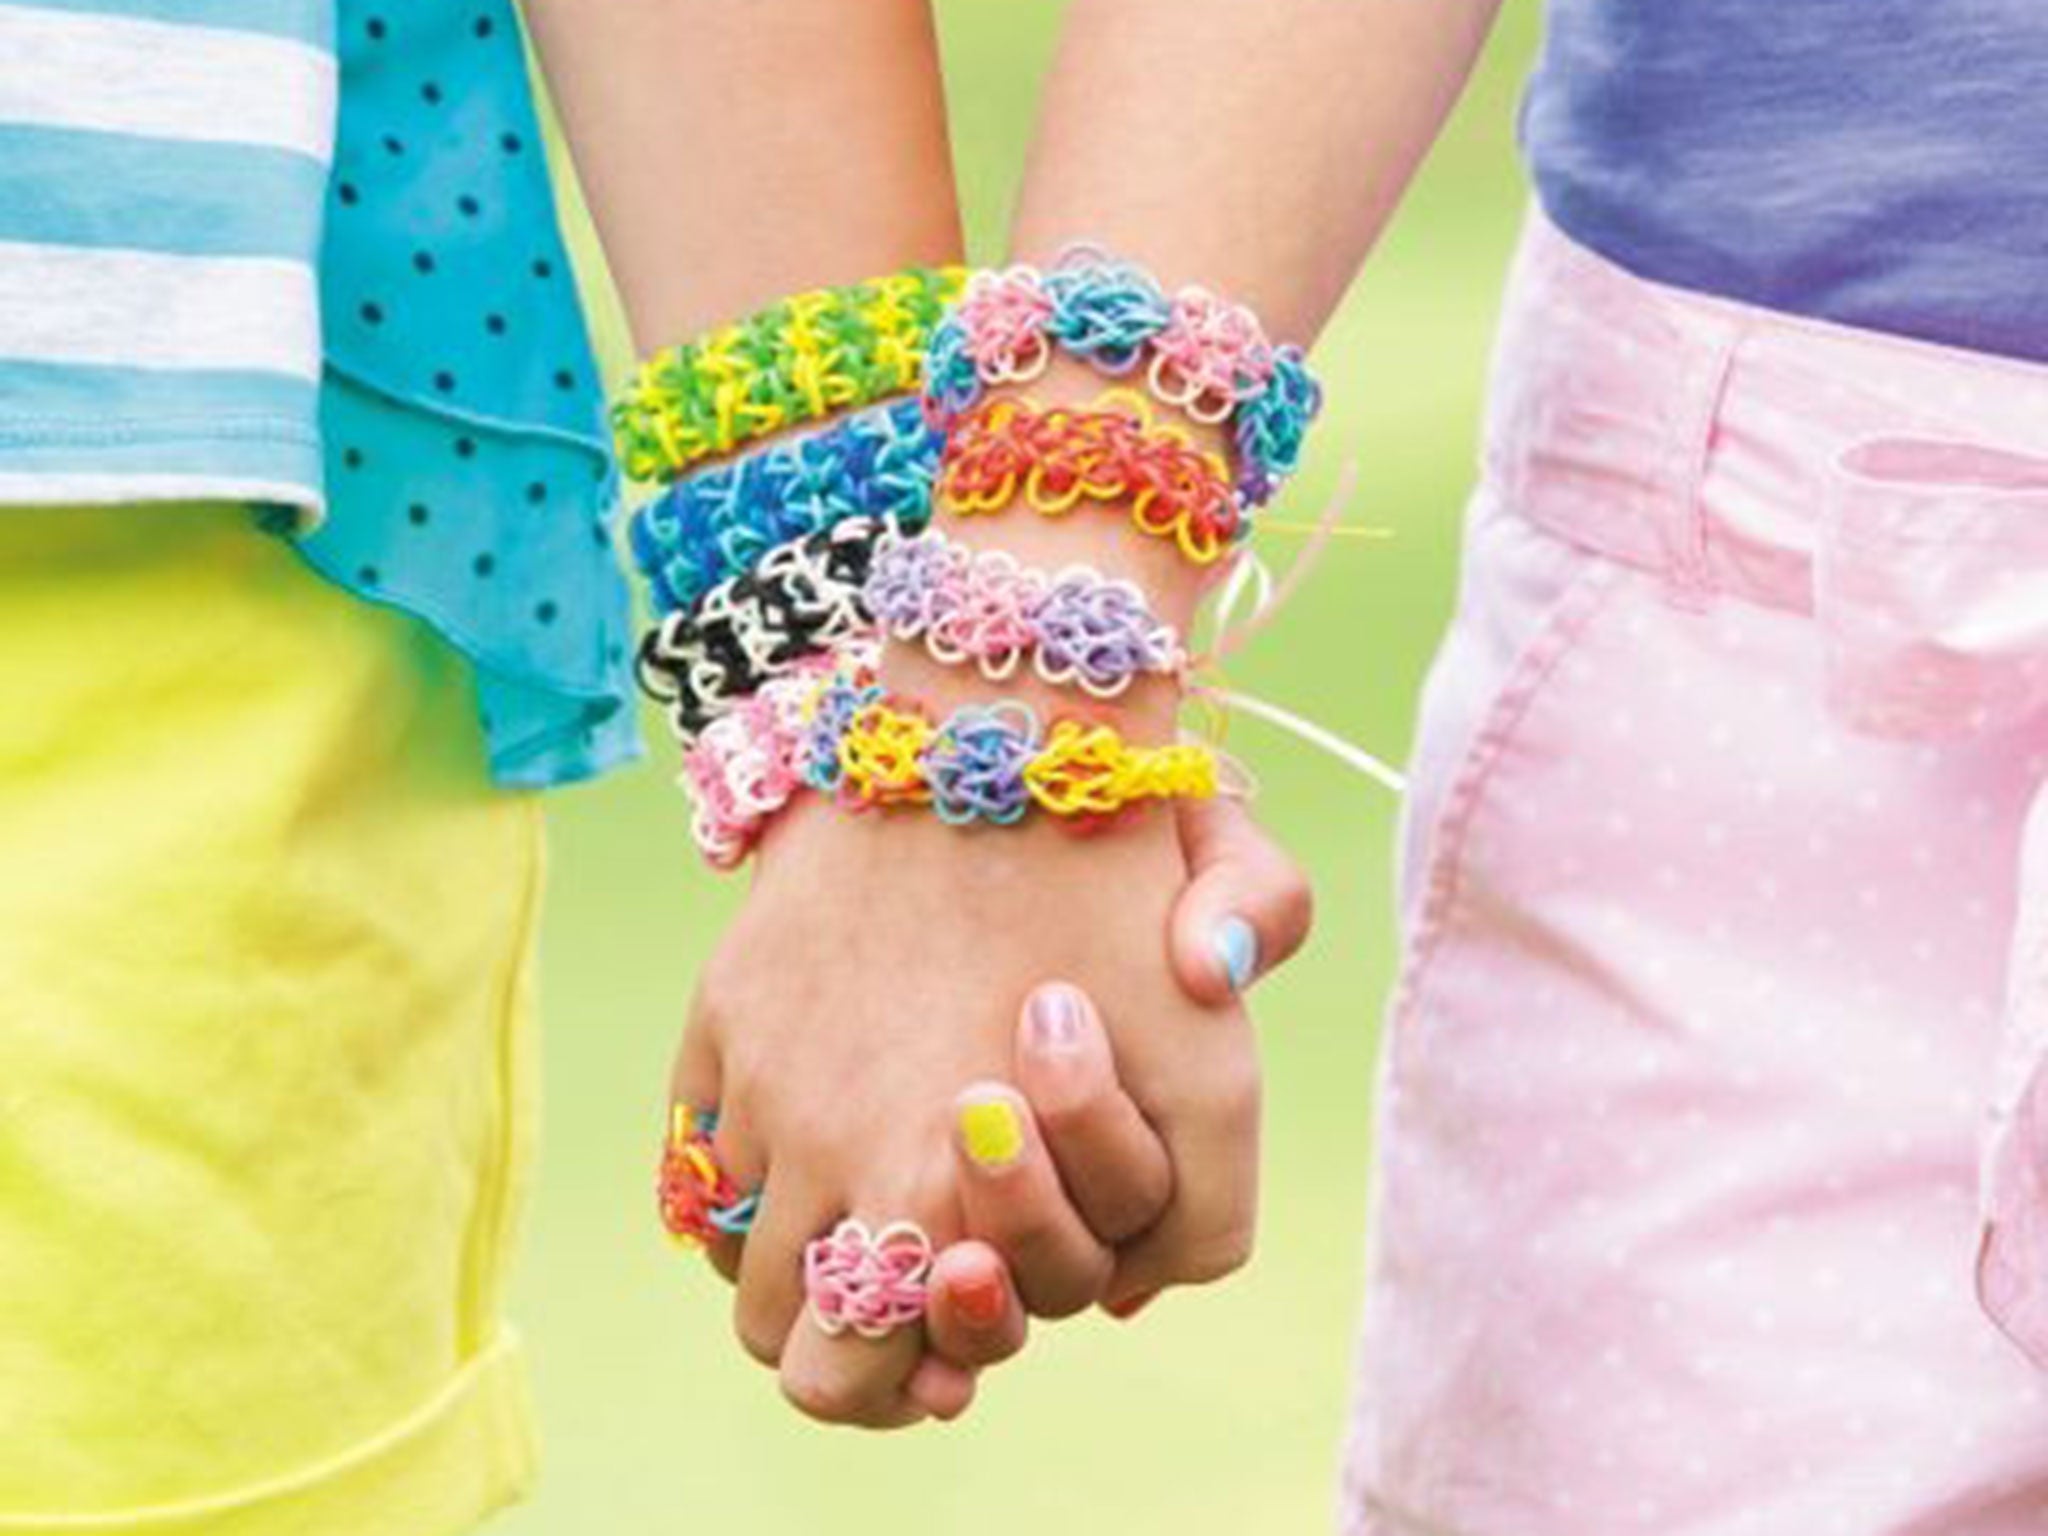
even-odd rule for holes
{"type": "Polygon", "coordinates": [[[526,0],[641,350],[958,260],[928,0],[526,0]]]}

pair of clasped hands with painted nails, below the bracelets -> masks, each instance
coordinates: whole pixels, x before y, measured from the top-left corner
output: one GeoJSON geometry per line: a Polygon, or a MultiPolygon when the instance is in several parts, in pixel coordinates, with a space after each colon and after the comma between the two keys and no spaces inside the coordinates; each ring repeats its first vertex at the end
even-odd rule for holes
{"type": "Polygon", "coordinates": [[[1309,909],[1227,799],[1079,838],[793,803],[674,1075],[762,1192],[752,1233],[711,1245],[748,1352],[817,1419],[952,1419],[1028,1315],[1128,1317],[1237,1270],[1260,1120],[1241,995],[1309,909]],[[805,1245],[842,1217],[930,1235],[922,1327],[834,1335],[807,1313],[805,1245]]]}

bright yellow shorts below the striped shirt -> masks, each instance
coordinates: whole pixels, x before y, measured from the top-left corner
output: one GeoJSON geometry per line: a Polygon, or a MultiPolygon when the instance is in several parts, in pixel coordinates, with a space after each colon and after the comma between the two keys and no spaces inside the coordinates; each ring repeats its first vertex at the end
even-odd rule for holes
{"type": "Polygon", "coordinates": [[[240,508],[0,510],[0,1532],[526,1487],[539,883],[422,627],[240,508]]]}

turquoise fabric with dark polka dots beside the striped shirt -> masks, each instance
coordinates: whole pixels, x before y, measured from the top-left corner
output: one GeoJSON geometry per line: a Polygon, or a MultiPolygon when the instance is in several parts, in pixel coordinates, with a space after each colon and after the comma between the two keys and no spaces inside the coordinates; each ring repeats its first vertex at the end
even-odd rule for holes
{"type": "Polygon", "coordinates": [[[473,664],[492,774],[639,752],[618,479],[508,0],[342,0],[322,250],[328,578],[473,664]]]}

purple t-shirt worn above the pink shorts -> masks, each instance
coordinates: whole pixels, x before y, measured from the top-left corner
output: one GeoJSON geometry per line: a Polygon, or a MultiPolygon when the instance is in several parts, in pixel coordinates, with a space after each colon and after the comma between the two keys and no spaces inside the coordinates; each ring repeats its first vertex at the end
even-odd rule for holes
{"type": "Polygon", "coordinates": [[[1642,276],[2048,360],[2048,0],[1550,0],[1522,139],[1642,276]]]}

